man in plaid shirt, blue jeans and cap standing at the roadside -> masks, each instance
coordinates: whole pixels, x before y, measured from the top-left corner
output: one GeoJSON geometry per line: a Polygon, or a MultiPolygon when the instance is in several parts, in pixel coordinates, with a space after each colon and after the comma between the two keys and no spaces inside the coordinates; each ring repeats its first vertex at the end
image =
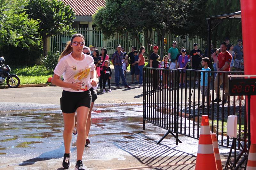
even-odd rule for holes
{"type": "Polygon", "coordinates": [[[124,53],[121,51],[121,45],[117,44],[116,45],[116,52],[113,54],[111,62],[113,63],[114,67],[115,67],[115,82],[116,82],[116,88],[120,89],[119,87],[119,82],[118,82],[118,75],[120,74],[123,84],[124,84],[124,88],[129,88],[131,86],[129,86],[126,83],[125,77],[124,77],[124,70],[123,70],[123,66],[122,66],[122,59],[124,58],[124,53]]]}

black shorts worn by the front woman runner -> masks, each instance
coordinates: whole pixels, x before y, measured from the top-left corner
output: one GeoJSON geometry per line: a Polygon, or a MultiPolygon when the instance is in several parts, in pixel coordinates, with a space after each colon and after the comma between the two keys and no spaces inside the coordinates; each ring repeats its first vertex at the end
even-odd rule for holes
{"type": "Polygon", "coordinates": [[[60,109],[63,113],[75,113],[81,106],[90,108],[92,102],[91,91],[68,92],[63,90],[60,98],[60,109]]]}

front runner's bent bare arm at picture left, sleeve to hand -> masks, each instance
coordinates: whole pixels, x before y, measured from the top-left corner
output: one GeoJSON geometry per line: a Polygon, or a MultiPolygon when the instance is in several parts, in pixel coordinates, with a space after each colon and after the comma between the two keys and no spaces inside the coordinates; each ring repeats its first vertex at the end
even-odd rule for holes
{"type": "Polygon", "coordinates": [[[57,74],[53,74],[53,77],[52,77],[52,84],[53,85],[57,85],[57,86],[60,86],[60,87],[66,87],[66,88],[71,88],[73,90],[76,90],[76,91],[79,91],[82,87],[82,82],[77,82],[77,83],[67,83],[67,82],[64,82],[60,79],[60,76],[58,76],[57,74]]]}

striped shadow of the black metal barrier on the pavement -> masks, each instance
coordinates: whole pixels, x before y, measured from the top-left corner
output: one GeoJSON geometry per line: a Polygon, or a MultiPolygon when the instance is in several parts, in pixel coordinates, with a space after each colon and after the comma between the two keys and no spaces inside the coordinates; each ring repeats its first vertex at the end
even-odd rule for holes
{"type": "Polygon", "coordinates": [[[175,147],[169,147],[157,142],[147,136],[137,133],[126,137],[114,144],[130,153],[138,159],[144,166],[155,169],[194,169],[196,156],[176,150],[175,147]],[[167,168],[169,169],[169,168],[167,168]]]}

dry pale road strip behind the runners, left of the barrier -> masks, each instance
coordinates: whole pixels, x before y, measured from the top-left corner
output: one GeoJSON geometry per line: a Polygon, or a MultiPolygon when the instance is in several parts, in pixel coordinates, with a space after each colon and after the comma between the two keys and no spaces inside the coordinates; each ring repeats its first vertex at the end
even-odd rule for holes
{"type": "MultiPolygon", "coordinates": [[[[121,89],[112,87],[112,92],[98,93],[95,103],[120,104],[124,102],[142,102],[142,86],[132,85],[132,88],[121,89]]],[[[60,105],[62,89],[60,87],[23,87],[0,89],[0,102],[37,103],[60,105]]]]}

